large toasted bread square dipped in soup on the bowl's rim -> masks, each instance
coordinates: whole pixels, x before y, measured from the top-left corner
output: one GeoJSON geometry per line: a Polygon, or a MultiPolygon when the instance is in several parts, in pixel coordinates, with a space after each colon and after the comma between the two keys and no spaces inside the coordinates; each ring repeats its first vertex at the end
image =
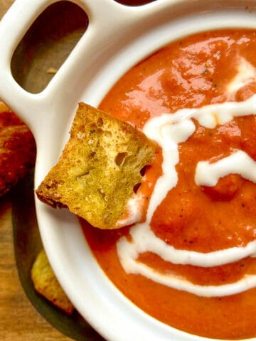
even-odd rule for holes
{"type": "Polygon", "coordinates": [[[101,229],[138,221],[134,212],[130,220],[125,217],[136,196],[134,186],[142,182],[140,171],[151,164],[155,151],[156,144],[142,131],[80,103],[68,144],[36,194],[101,229]]]}

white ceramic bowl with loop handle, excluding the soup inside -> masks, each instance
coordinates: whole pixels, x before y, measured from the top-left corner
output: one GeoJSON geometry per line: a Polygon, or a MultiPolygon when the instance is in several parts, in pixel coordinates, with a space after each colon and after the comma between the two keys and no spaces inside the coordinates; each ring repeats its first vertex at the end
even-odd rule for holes
{"type": "MultiPolygon", "coordinates": [[[[97,106],[124,72],[172,40],[214,28],[256,28],[255,0],[157,0],[139,7],[75,0],[89,17],[87,31],[48,87],[31,94],[12,77],[11,56],[34,19],[54,2],[16,0],[0,24],[0,97],[36,138],[36,186],[58,159],[79,101],[97,106]]],[[[195,340],[146,315],[117,291],[97,266],[76,217],[38,200],[36,212],[58,280],[106,340],[195,340]]]]}

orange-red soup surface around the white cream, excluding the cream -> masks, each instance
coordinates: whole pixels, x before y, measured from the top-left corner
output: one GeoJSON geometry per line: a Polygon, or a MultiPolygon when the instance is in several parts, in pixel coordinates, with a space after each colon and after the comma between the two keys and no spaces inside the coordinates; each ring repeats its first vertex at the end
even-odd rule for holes
{"type": "MultiPolygon", "coordinates": [[[[142,129],[148,119],[163,113],[244,101],[256,93],[256,78],[233,91],[228,85],[238,74],[241,60],[256,70],[255,48],[255,31],[213,31],[183,38],[129,70],[103,99],[100,109],[142,129]]],[[[245,246],[256,234],[256,184],[232,174],[213,187],[203,187],[196,185],[194,173],[198,161],[228,156],[236,148],[256,160],[256,117],[237,117],[215,129],[194,123],[195,133],[178,145],[178,183],[154,212],[151,229],[176,249],[210,252],[245,246]]],[[[161,156],[149,169],[148,178],[154,182],[160,174],[161,156]]],[[[119,263],[116,242],[129,234],[129,227],[102,231],[82,222],[82,228],[103,271],[149,315],[206,337],[256,336],[255,288],[206,298],[127,274],[119,263]]],[[[163,273],[171,271],[206,286],[256,274],[256,261],[250,257],[211,268],[171,264],[150,252],[141,254],[140,259],[163,273]]]]}

